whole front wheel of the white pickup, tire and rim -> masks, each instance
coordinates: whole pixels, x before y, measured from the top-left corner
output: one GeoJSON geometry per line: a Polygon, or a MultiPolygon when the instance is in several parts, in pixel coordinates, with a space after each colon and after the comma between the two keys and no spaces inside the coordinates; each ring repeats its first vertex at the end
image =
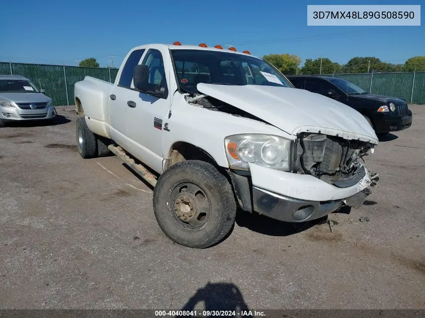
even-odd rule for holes
{"type": "Polygon", "coordinates": [[[188,160],[159,177],[153,211],[161,230],[174,242],[206,248],[230,232],[236,202],[228,180],[213,165],[188,160]]]}

